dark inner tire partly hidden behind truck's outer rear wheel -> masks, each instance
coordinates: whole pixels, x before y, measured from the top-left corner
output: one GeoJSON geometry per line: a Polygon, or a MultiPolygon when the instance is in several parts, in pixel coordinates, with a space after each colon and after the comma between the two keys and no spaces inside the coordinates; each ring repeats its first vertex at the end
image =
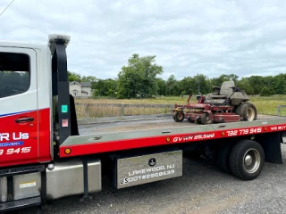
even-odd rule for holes
{"type": "Polygon", "coordinates": [[[230,156],[231,156],[232,144],[223,144],[218,152],[217,165],[218,167],[226,173],[231,174],[230,156]]]}

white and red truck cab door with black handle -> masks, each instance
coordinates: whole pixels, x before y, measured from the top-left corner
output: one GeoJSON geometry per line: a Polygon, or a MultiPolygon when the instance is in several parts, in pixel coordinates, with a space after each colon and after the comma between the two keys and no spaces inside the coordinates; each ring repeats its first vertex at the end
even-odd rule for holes
{"type": "Polygon", "coordinates": [[[36,57],[0,46],[0,167],[38,162],[36,57]]]}

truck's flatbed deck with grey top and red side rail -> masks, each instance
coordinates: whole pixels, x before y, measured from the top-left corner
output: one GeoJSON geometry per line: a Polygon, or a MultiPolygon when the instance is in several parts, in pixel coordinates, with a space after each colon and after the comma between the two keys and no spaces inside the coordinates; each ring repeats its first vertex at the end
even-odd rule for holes
{"type": "Polygon", "coordinates": [[[114,122],[80,126],[60,146],[61,157],[114,152],[164,144],[179,144],[232,136],[249,136],[286,130],[286,118],[259,115],[256,121],[198,125],[173,119],[114,122]],[[70,154],[64,152],[71,149],[70,154]]]}

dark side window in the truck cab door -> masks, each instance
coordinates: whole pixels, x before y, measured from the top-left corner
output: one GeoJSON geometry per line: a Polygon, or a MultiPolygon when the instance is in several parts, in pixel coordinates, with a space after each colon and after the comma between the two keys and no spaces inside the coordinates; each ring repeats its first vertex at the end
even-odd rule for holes
{"type": "Polygon", "coordinates": [[[0,98],[28,91],[29,76],[28,54],[0,52],[0,98]]]}

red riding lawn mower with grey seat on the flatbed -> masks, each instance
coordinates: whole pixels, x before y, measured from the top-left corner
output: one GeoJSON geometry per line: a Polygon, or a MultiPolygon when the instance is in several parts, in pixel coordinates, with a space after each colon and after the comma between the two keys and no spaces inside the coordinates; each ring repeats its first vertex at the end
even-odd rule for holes
{"type": "Polygon", "coordinates": [[[175,104],[173,119],[176,122],[188,119],[204,125],[257,119],[257,108],[248,103],[248,95],[233,81],[225,81],[221,87],[213,86],[213,89],[212,94],[197,96],[198,103],[189,103],[192,96],[189,95],[187,105],[175,104]]]}

